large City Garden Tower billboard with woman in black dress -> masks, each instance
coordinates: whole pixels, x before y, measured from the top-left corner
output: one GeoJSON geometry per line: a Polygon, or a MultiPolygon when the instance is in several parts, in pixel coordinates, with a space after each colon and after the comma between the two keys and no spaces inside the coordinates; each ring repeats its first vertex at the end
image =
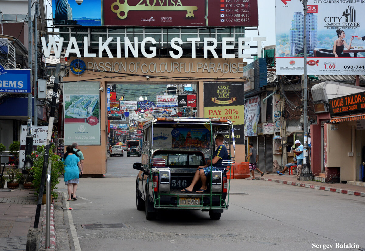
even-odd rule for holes
{"type": "Polygon", "coordinates": [[[301,1],[276,0],[276,73],[365,74],[365,1],[308,0],[307,62],[301,1]]]}

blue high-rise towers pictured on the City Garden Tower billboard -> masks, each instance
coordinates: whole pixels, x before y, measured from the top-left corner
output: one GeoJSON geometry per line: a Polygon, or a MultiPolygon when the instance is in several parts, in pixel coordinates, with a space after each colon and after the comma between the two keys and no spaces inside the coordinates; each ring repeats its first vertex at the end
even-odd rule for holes
{"type": "MultiPolygon", "coordinates": [[[[317,16],[312,13],[307,14],[307,56],[314,55],[314,48],[317,47],[317,16]]],[[[290,33],[290,54],[291,56],[301,57],[304,42],[304,13],[294,12],[290,33]]]]}

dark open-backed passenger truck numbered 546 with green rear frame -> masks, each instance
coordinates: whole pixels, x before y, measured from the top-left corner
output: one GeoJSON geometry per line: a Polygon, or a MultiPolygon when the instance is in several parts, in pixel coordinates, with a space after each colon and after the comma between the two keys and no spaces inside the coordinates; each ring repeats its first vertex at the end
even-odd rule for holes
{"type": "MultiPolygon", "coordinates": [[[[208,211],[211,219],[220,219],[228,208],[230,181],[227,172],[234,165],[235,143],[232,122],[218,118],[161,117],[143,126],[141,163],[133,168],[140,170],[136,181],[136,205],[145,210],[146,219],[156,217],[159,209],[200,209],[208,211]],[[207,177],[207,191],[181,190],[191,184],[199,166],[214,158],[214,139],[223,134],[228,160],[224,168],[211,169],[207,177]]],[[[210,165],[212,168],[212,165],[210,165]]]]}

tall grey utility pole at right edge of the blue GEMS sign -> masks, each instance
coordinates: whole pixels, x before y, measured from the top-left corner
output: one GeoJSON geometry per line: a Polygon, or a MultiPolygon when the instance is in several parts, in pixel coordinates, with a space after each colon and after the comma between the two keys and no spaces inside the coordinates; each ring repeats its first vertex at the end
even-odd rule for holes
{"type": "MultiPolygon", "coordinates": [[[[30,155],[33,150],[33,136],[32,136],[32,83],[33,83],[33,74],[32,74],[32,0],[28,0],[28,68],[30,68],[30,93],[28,93],[28,121],[27,121],[27,137],[26,137],[26,145],[25,145],[25,161],[23,169],[25,166],[31,166],[31,160],[27,157],[30,155]]],[[[34,104],[35,106],[35,104],[34,104]]]]}

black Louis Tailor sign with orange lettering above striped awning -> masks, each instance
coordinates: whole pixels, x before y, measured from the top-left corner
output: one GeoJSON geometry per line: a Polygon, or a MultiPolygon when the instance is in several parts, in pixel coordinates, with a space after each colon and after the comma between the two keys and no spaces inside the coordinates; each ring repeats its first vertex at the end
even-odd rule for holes
{"type": "Polygon", "coordinates": [[[365,92],[332,98],[328,100],[328,103],[330,105],[330,114],[365,110],[365,92]]]}

